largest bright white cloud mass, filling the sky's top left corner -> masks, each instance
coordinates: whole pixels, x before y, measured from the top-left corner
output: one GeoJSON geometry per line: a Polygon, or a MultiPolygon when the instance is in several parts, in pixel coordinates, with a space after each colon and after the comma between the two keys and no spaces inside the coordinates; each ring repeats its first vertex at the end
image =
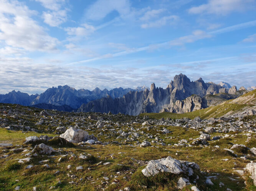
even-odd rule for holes
{"type": "Polygon", "coordinates": [[[0,40],[29,51],[55,50],[58,39],[49,36],[31,18],[35,11],[18,1],[0,0],[0,40]]]}

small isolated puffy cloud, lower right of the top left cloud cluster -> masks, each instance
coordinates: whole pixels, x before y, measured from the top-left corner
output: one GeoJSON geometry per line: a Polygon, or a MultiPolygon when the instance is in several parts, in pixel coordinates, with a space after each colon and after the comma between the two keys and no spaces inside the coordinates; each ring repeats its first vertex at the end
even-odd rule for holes
{"type": "Polygon", "coordinates": [[[82,27],[68,27],[64,29],[70,36],[86,37],[95,31],[94,26],[83,24],[82,27]]]}

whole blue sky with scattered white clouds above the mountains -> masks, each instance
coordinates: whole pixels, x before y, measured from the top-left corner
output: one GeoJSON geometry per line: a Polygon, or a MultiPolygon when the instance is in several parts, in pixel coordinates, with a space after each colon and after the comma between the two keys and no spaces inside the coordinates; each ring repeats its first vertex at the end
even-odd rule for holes
{"type": "Polygon", "coordinates": [[[0,94],[180,73],[256,86],[256,0],[0,0],[0,94]]]}

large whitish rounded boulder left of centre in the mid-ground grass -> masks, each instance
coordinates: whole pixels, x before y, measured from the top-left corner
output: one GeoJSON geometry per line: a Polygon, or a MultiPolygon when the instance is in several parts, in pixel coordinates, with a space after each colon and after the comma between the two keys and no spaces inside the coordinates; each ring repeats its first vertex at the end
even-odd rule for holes
{"type": "Polygon", "coordinates": [[[91,139],[97,141],[97,138],[95,138],[93,135],[89,135],[87,131],[74,127],[67,129],[65,133],[60,135],[60,137],[72,143],[79,143],[81,141],[88,141],[91,139]]]}

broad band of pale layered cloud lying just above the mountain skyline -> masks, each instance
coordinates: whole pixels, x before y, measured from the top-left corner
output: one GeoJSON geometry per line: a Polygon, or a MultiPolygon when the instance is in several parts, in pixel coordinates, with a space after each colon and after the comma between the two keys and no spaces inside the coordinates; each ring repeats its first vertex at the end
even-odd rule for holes
{"type": "MultiPolygon", "coordinates": [[[[226,63],[229,60],[233,62],[234,58],[191,60],[187,63],[170,63],[170,65],[145,66],[135,69],[111,65],[70,67],[61,64],[37,63],[30,58],[2,57],[0,58],[0,93],[7,93],[13,89],[28,93],[40,93],[49,87],[65,84],[76,89],[94,89],[95,87],[111,89],[114,87],[136,87],[143,84],[150,86],[154,82],[157,86],[165,88],[174,75],[181,72],[188,75],[191,80],[202,77],[205,81],[219,83],[220,80],[223,80],[237,86],[252,86],[256,83],[255,67],[253,67],[255,64],[232,65],[236,70],[230,70],[230,65],[221,65],[221,71],[215,65],[226,63]],[[209,62],[211,64],[207,64],[209,62]],[[200,66],[202,63],[206,63],[205,67],[200,66]],[[246,72],[241,68],[251,68],[251,70],[246,72]],[[190,72],[188,73],[188,71],[190,72]]],[[[61,63],[59,60],[53,60],[53,62],[61,63]]]]}

